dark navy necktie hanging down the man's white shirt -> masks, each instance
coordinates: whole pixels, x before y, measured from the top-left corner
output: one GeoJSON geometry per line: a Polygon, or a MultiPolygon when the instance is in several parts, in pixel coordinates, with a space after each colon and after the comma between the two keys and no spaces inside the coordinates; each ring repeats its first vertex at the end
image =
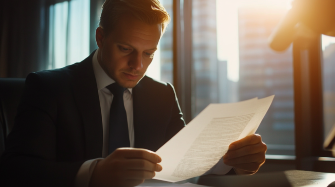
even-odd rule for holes
{"type": "Polygon", "coordinates": [[[106,87],[113,93],[113,101],[109,113],[109,147],[108,154],[111,154],[119,147],[130,147],[127,113],[123,101],[123,93],[126,88],[122,88],[117,83],[106,87]]]}

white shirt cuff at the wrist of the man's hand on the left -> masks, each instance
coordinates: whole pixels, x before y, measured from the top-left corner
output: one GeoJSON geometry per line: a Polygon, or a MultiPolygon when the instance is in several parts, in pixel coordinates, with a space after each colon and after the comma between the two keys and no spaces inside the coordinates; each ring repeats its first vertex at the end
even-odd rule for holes
{"type": "Polygon", "coordinates": [[[75,176],[75,187],[88,187],[94,167],[99,160],[103,160],[103,158],[87,160],[80,166],[78,173],[75,176]]]}

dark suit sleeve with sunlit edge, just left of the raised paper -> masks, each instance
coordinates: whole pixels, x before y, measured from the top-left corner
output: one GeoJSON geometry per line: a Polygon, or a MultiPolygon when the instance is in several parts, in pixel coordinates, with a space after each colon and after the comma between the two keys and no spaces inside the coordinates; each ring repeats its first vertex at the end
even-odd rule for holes
{"type": "Polygon", "coordinates": [[[173,136],[175,136],[180,130],[185,127],[185,121],[183,119],[183,113],[180,109],[178,98],[173,86],[168,83],[168,86],[171,88],[170,92],[172,95],[171,102],[173,103],[171,118],[167,129],[166,141],[170,140],[173,136]]]}

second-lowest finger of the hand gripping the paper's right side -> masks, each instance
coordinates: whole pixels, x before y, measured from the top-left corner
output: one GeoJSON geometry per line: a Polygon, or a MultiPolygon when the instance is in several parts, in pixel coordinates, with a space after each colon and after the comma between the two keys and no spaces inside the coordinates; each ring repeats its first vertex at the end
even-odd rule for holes
{"type": "Polygon", "coordinates": [[[234,159],[224,159],[223,162],[228,166],[235,166],[239,164],[248,164],[248,163],[259,163],[263,164],[265,162],[265,154],[257,153],[247,156],[242,156],[234,159]]]}

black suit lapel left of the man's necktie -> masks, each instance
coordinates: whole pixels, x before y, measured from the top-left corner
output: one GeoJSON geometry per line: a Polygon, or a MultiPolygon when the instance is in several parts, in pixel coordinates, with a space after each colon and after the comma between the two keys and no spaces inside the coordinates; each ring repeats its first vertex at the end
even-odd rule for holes
{"type": "Polygon", "coordinates": [[[78,64],[72,85],[74,99],[84,127],[86,159],[102,156],[101,108],[92,66],[94,52],[78,64]]]}

